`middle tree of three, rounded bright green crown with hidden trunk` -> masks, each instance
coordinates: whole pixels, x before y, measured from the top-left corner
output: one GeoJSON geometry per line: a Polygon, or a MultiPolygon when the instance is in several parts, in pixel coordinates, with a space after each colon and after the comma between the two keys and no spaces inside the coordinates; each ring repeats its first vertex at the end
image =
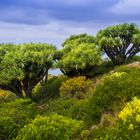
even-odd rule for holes
{"type": "Polygon", "coordinates": [[[66,39],[60,53],[58,67],[70,77],[89,76],[89,71],[101,63],[101,51],[95,44],[95,37],[87,34],[66,39]]]}

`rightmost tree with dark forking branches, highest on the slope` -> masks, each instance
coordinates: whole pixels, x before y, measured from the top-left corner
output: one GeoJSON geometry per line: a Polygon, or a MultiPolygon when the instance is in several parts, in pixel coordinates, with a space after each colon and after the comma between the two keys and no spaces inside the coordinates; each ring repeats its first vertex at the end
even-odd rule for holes
{"type": "Polygon", "coordinates": [[[140,30],[135,24],[110,26],[98,32],[97,42],[114,64],[123,64],[140,52],[140,30]]]}

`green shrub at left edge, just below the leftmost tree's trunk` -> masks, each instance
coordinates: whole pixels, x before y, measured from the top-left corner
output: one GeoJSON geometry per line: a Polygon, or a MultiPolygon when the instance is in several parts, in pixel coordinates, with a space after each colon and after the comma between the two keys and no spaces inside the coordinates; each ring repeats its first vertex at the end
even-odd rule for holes
{"type": "Polygon", "coordinates": [[[0,118],[11,117],[21,126],[28,123],[35,115],[35,104],[29,99],[16,99],[13,102],[3,103],[0,105],[0,118]]]}

